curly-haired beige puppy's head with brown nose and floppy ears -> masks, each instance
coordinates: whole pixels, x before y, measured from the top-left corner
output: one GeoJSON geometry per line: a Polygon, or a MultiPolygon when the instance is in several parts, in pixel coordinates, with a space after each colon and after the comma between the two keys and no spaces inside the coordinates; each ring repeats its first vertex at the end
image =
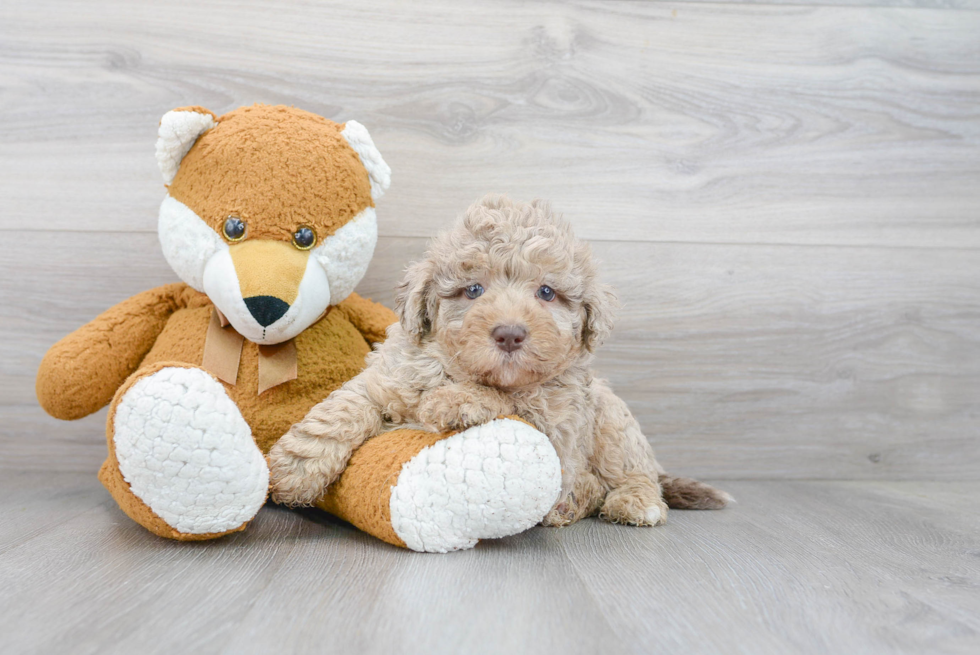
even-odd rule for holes
{"type": "Polygon", "coordinates": [[[612,329],[615,295],[546,203],[488,196],[408,268],[396,302],[402,327],[452,377],[515,389],[592,353],[612,329]]]}

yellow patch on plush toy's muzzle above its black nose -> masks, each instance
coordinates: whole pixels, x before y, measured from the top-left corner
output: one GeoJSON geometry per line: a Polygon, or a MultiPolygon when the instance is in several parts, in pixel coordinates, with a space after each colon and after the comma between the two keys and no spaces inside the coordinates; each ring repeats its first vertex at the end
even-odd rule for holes
{"type": "Polygon", "coordinates": [[[228,246],[242,298],[272,296],[292,305],[306,274],[310,251],[285,241],[248,239],[228,246]]]}

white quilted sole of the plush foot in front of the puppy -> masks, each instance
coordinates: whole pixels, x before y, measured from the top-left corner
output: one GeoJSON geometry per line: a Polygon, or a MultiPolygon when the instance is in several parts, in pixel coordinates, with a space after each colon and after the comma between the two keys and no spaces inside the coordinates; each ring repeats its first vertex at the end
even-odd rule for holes
{"type": "Polygon", "coordinates": [[[537,525],[560,490],[561,464],[548,437],[497,419],[407,462],[391,489],[391,525],[412,550],[472,548],[537,525]]]}

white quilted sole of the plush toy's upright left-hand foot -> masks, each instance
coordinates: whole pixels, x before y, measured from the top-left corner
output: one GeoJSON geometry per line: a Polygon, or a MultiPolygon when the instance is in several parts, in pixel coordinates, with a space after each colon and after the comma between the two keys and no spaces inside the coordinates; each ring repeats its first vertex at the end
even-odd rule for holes
{"type": "Polygon", "coordinates": [[[199,369],[164,368],[116,406],[116,459],[133,493],[184,534],[225,532],[265,503],[269,469],[224,388],[199,369]]]}

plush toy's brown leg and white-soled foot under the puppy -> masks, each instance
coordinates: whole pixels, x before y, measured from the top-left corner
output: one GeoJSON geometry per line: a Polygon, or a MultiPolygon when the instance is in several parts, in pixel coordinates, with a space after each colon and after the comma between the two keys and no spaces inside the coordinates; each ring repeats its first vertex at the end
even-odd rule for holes
{"type": "Polygon", "coordinates": [[[445,553],[537,525],[560,491],[548,438],[496,419],[449,436],[400,429],[368,439],[317,505],[388,543],[445,553]]]}

